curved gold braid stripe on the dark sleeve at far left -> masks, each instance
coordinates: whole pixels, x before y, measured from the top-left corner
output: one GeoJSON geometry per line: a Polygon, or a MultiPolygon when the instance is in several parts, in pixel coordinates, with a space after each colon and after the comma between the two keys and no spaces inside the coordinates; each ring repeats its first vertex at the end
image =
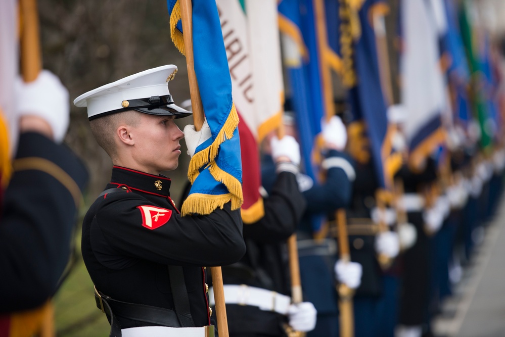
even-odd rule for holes
{"type": "Polygon", "coordinates": [[[12,166],[14,168],[14,172],[36,170],[51,175],[68,189],[74,199],[75,205],[79,207],[82,200],[82,194],[79,186],[67,172],[55,163],[44,158],[26,157],[14,160],[12,166]]]}

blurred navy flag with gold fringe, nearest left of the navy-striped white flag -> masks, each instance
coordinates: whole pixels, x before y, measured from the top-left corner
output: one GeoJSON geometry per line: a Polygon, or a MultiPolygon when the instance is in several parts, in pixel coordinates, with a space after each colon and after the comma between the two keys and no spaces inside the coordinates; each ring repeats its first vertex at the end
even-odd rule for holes
{"type": "MultiPolygon", "coordinates": [[[[347,8],[341,11],[341,34],[348,34],[354,38],[354,43],[341,44],[341,58],[347,64],[346,54],[350,54],[354,65],[354,84],[349,90],[349,103],[353,121],[349,128],[349,141],[354,138],[362,139],[366,132],[370,147],[370,159],[373,161],[374,171],[380,188],[391,189],[393,175],[401,166],[401,155],[393,152],[391,144],[392,128],[387,120],[387,104],[384,99],[377,54],[376,33],[371,25],[374,11],[382,9],[383,2],[366,0],[359,9],[347,8]],[[357,12],[357,16],[353,11],[357,12]],[[347,13],[347,14],[346,14],[347,13]],[[359,22],[356,22],[356,18],[359,22]],[[359,29],[356,25],[359,24],[359,29]]],[[[348,39],[339,40],[347,41],[348,39]]],[[[348,70],[350,71],[350,70],[348,70]]],[[[359,143],[359,141],[358,141],[359,143]]],[[[363,146],[350,144],[351,154],[356,160],[363,162],[367,156],[363,153],[363,146]],[[356,148],[353,151],[353,146],[356,148]]]]}

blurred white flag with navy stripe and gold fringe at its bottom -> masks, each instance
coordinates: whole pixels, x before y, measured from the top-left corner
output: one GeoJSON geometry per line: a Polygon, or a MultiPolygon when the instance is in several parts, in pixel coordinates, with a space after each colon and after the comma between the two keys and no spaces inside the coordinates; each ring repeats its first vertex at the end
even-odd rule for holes
{"type": "Polygon", "coordinates": [[[439,37],[443,27],[437,24],[441,17],[435,16],[435,3],[403,0],[400,8],[400,95],[407,111],[403,130],[412,169],[420,169],[425,159],[445,142],[441,115],[449,107],[440,66],[439,37]]]}

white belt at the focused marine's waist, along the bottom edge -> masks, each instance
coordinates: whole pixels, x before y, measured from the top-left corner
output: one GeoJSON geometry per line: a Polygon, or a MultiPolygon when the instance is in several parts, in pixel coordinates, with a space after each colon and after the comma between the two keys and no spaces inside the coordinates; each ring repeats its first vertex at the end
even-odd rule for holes
{"type": "Polygon", "coordinates": [[[214,337],[214,325],[200,327],[140,326],[121,329],[123,337],[214,337]]]}

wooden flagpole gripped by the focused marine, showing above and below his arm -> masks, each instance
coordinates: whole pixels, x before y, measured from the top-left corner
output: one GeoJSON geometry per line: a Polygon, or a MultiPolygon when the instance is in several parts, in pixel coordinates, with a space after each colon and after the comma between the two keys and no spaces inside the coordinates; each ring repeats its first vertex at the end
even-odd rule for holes
{"type": "MultiPolygon", "coordinates": [[[[200,90],[198,89],[198,81],[195,74],[195,60],[193,58],[193,24],[192,13],[193,7],[191,0],[179,0],[180,16],[182,20],[182,37],[184,38],[184,46],[186,50],[186,64],[188,68],[188,78],[190,82],[191,106],[193,110],[193,123],[198,131],[202,128],[205,114],[203,111],[202,100],[200,98],[200,90]]],[[[226,306],[224,304],[223,277],[221,267],[211,267],[212,285],[214,289],[214,299],[216,303],[216,317],[218,333],[221,337],[228,337],[228,321],[226,318],[226,306]]]]}

